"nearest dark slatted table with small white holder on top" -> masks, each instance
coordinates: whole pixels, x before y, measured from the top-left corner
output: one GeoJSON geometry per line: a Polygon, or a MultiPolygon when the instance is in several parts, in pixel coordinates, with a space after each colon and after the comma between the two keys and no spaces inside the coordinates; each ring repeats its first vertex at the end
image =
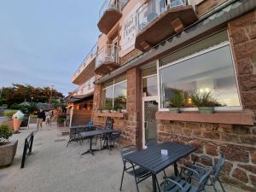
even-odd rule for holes
{"type": "Polygon", "coordinates": [[[125,160],[143,167],[143,169],[152,173],[153,191],[156,192],[156,174],[162,172],[166,167],[174,165],[175,176],[177,176],[177,160],[194,152],[197,148],[180,143],[160,143],[125,155],[125,160]],[[161,154],[161,149],[168,151],[167,155],[161,154]]]}

